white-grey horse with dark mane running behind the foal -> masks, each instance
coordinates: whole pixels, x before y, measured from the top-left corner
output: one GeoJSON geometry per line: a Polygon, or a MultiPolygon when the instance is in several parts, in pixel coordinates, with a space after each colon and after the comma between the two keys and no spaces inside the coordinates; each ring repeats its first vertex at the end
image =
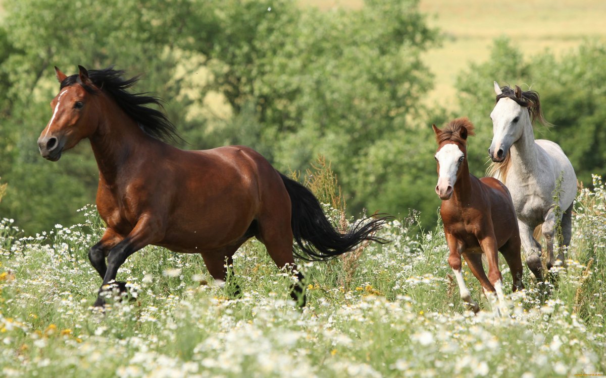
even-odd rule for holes
{"type": "Polygon", "coordinates": [[[490,114],[493,142],[488,154],[493,163],[488,174],[501,180],[511,192],[518,217],[526,264],[537,279],[543,280],[541,244],[533,231],[542,224],[547,243],[547,269],[564,264],[564,246],[570,244],[571,213],[576,197],[576,174],[564,151],[550,140],[534,140],[533,122],[544,123],[539,94],[522,91],[516,85],[499,87],[494,82],[496,105],[490,114]],[[554,201],[556,183],[561,178],[558,203],[554,201]],[[556,206],[560,209],[556,210],[556,206]],[[562,240],[558,260],[553,256],[553,237],[561,217],[562,240]]]}

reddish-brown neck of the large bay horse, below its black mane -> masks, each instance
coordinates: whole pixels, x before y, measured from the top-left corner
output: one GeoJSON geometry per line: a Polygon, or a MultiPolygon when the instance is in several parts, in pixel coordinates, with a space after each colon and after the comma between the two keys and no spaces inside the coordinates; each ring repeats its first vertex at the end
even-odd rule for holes
{"type": "Polygon", "coordinates": [[[116,184],[120,172],[135,160],[145,158],[144,150],[157,140],[153,139],[126,116],[112,100],[105,99],[102,116],[90,144],[99,168],[99,178],[105,183],[116,184]]]}

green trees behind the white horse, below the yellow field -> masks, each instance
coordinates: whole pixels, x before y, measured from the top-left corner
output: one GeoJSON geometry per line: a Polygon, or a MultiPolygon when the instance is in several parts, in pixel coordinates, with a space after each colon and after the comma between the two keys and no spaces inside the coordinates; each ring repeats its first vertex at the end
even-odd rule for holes
{"type": "MultiPolygon", "coordinates": [[[[461,113],[476,123],[478,140],[487,148],[492,137],[488,116],[494,106],[493,81],[522,85],[523,90],[530,87],[541,96],[545,119],[553,125],[535,125],[535,137],[558,143],[579,180],[591,184],[591,174],[606,174],[605,59],[606,45],[599,40],[586,41],[561,57],[544,51],[524,58],[510,41],[497,39],[490,60],[472,64],[459,75],[461,113]]],[[[487,160],[485,148],[479,149],[478,161],[487,160]]]]}

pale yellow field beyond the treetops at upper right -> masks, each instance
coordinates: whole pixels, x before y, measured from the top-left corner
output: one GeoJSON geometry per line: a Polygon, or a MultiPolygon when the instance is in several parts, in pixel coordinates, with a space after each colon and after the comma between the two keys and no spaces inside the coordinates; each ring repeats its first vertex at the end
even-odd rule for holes
{"type": "MultiPolygon", "coordinates": [[[[364,5],[362,0],[299,2],[322,10],[364,5]]],[[[457,75],[470,62],[488,59],[494,38],[509,37],[525,55],[549,50],[561,56],[588,37],[606,37],[606,2],[601,0],[422,0],[419,10],[427,15],[429,25],[444,33],[442,46],[425,51],[423,59],[435,74],[427,100],[447,107],[454,106],[444,99],[456,94],[457,75]]]]}

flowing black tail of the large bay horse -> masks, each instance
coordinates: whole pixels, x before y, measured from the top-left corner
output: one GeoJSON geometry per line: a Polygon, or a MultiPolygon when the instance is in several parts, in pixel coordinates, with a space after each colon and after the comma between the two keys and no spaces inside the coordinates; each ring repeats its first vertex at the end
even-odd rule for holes
{"type": "Polygon", "coordinates": [[[341,233],[330,224],[318,199],[307,187],[285,175],[280,176],[292,204],[290,224],[293,236],[299,248],[307,255],[303,256],[293,248],[297,257],[308,261],[328,260],[354,249],[365,240],[387,243],[384,239],[373,236],[387,217],[366,218],[347,232],[341,233]]]}

